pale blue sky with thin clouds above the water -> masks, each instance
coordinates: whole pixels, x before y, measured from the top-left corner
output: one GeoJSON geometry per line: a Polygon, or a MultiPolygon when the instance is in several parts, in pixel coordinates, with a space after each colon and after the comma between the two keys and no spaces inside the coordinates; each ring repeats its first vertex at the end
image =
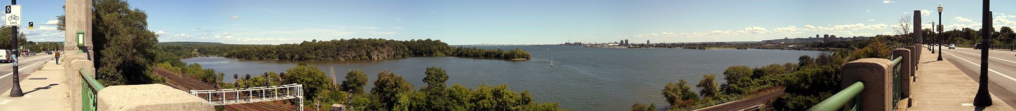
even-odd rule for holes
{"type": "MultiPolygon", "coordinates": [[[[895,34],[922,10],[926,28],[979,29],[980,0],[131,0],[166,41],[239,44],[312,39],[440,39],[449,44],[759,41],[815,34],[895,34]]],[[[6,3],[6,2],[2,2],[6,3]]],[[[63,0],[21,0],[22,24],[56,22],[63,0]]],[[[1016,26],[1016,1],[992,2],[996,28],[1016,26]]],[[[54,25],[28,40],[62,41],[54,25]]]]}

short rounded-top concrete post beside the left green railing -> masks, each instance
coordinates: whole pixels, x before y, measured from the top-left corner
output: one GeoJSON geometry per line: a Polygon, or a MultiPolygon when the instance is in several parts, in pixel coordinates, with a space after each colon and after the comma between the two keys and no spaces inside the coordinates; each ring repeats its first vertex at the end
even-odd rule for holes
{"type": "Polygon", "coordinates": [[[91,61],[88,60],[74,60],[68,64],[69,67],[64,69],[64,75],[67,76],[67,88],[70,89],[71,104],[74,105],[72,110],[81,110],[81,74],[80,71],[88,73],[91,78],[96,78],[96,69],[91,61]]]}

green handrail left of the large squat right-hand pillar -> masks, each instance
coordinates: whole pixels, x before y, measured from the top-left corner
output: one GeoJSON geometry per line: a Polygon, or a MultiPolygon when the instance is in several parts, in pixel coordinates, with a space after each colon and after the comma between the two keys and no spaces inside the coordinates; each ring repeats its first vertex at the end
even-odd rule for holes
{"type": "MultiPolygon", "coordinates": [[[[843,89],[842,91],[839,91],[839,93],[836,93],[836,95],[832,95],[831,97],[829,97],[826,100],[823,100],[819,104],[812,106],[812,108],[808,109],[808,111],[835,111],[847,105],[847,102],[849,102],[850,99],[858,100],[856,98],[859,98],[858,95],[861,94],[861,91],[865,91],[865,83],[854,82],[849,87],[846,87],[846,89],[843,89]]],[[[859,102],[854,101],[854,103],[859,102]]],[[[856,107],[856,104],[853,104],[848,109],[856,109],[853,107],[856,107]]]]}

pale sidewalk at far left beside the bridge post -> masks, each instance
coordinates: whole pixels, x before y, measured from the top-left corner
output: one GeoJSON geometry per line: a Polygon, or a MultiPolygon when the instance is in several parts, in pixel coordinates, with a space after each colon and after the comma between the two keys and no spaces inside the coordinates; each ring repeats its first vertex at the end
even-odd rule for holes
{"type": "Polygon", "coordinates": [[[67,77],[63,66],[54,62],[47,62],[20,82],[23,97],[10,97],[10,92],[0,95],[0,111],[70,111],[67,77]]]}

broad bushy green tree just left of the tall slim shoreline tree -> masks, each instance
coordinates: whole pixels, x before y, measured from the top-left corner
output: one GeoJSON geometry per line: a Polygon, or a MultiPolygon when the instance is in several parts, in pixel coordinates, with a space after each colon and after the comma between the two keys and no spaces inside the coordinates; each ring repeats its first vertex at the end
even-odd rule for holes
{"type": "Polygon", "coordinates": [[[371,94],[377,95],[384,109],[395,108],[398,102],[397,95],[412,91],[412,85],[402,79],[402,76],[395,75],[388,70],[378,73],[378,79],[374,81],[374,88],[371,94]]]}

